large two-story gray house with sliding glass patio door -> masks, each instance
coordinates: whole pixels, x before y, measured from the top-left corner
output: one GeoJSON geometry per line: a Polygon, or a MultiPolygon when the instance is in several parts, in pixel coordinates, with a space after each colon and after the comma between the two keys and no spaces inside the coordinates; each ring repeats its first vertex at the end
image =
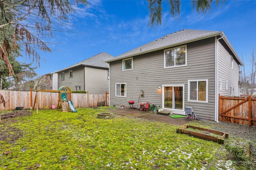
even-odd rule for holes
{"type": "Polygon", "coordinates": [[[242,61],[222,31],[184,29],[107,62],[111,106],[134,100],[176,114],[192,107],[200,118],[218,121],[218,94],[239,96],[242,61]]]}

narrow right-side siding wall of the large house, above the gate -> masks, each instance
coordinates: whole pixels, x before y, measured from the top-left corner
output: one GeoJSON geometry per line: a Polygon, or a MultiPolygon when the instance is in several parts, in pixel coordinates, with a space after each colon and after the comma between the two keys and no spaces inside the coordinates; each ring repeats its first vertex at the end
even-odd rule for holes
{"type": "Polygon", "coordinates": [[[222,43],[218,42],[218,89],[219,80],[222,80],[222,90],[218,90],[222,96],[230,96],[230,86],[233,86],[233,96],[239,96],[239,64],[233,56],[233,68],[231,68],[231,53],[222,43]],[[228,90],[226,90],[226,81],[228,90]]]}

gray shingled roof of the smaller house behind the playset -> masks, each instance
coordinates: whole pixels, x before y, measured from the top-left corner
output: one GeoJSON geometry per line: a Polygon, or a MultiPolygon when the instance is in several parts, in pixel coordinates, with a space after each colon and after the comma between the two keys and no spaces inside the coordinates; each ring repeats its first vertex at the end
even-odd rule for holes
{"type": "MultiPolygon", "coordinates": [[[[90,57],[89,59],[86,59],[84,61],[81,61],[79,63],[76,63],[72,66],[68,66],[66,68],[63,68],[61,70],[55,71],[55,72],[61,72],[64,70],[68,70],[70,68],[76,67],[76,66],[90,66],[90,67],[98,67],[98,68],[109,68],[109,64],[106,63],[107,60],[113,59],[114,57],[106,52],[99,53],[97,55],[94,55],[90,57]]],[[[52,72],[52,73],[55,73],[52,72]]]]}

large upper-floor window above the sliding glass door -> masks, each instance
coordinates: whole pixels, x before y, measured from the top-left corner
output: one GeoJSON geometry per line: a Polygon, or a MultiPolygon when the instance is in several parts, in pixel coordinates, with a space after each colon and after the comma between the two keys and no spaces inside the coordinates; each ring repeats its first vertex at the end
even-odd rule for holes
{"type": "Polygon", "coordinates": [[[167,49],[164,51],[164,68],[186,66],[187,65],[187,54],[186,45],[176,47],[173,49],[167,49]]]}

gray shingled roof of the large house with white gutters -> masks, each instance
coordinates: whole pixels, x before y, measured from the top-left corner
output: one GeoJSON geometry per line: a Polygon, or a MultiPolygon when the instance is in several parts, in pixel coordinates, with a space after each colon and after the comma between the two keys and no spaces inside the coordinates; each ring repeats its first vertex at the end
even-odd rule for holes
{"type": "Polygon", "coordinates": [[[175,45],[180,45],[184,43],[189,43],[192,41],[197,41],[200,39],[205,39],[209,37],[214,37],[216,35],[221,35],[224,38],[224,41],[228,44],[240,64],[242,64],[242,61],[239,59],[238,55],[236,54],[236,51],[232,47],[232,45],[229,43],[228,39],[224,35],[222,31],[204,31],[204,30],[194,30],[194,29],[183,29],[180,31],[177,31],[175,33],[170,33],[168,35],[164,35],[163,37],[156,39],[150,43],[144,44],[138,48],[132,49],[131,51],[128,51],[126,53],[123,53],[121,55],[118,55],[117,57],[108,60],[107,62],[116,61],[120,59],[124,59],[127,57],[132,57],[135,55],[140,55],[143,53],[149,53],[152,51],[164,49],[167,47],[172,47],[175,45]]]}

